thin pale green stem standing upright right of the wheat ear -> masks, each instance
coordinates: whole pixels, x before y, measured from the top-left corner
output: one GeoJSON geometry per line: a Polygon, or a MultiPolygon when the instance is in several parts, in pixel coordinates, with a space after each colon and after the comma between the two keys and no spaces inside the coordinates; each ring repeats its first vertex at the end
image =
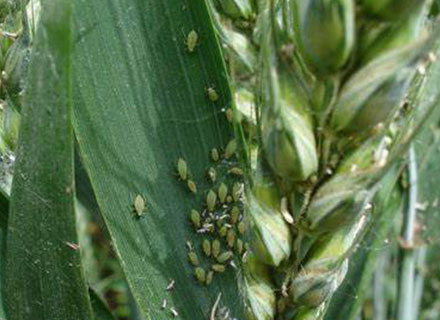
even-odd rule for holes
{"type": "Polygon", "coordinates": [[[397,298],[397,319],[414,319],[414,278],[415,278],[415,259],[413,251],[414,225],[416,220],[417,204],[417,162],[414,147],[409,150],[408,162],[409,194],[408,205],[404,212],[402,226],[402,240],[404,245],[401,247],[400,259],[400,279],[397,298]]]}

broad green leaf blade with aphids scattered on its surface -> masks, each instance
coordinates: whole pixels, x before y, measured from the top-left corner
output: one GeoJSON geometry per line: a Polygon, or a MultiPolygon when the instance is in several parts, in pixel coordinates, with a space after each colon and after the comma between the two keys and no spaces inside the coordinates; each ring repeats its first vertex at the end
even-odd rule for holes
{"type": "Polygon", "coordinates": [[[183,319],[206,319],[222,292],[221,305],[243,318],[232,268],[199,285],[185,246],[192,240],[199,250],[189,214],[206,195],[209,150],[232,137],[222,111],[230,101],[226,73],[204,1],[79,1],[77,8],[75,133],[140,312],[167,319],[175,307],[183,319]],[[185,47],[191,30],[194,52],[185,47]],[[218,101],[206,96],[208,86],[218,101]],[[178,180],[179,157],[196,196],[178,180]],[[138,194],[146,201],[141,218],[133,214],[138,194]],[[176,287],[166,291],[171,280],[176,287]]]}

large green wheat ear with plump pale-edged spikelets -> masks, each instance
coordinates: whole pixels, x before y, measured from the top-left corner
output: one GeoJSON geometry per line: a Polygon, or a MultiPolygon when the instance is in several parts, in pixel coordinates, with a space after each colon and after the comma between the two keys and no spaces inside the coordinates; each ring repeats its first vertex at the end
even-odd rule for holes
{"type": "Polygon", "coordinates": [[[417,99],[437,61],[431,5],[213,1],[248,168],[250,319],[324,318],[438,99],[417,99]]]}

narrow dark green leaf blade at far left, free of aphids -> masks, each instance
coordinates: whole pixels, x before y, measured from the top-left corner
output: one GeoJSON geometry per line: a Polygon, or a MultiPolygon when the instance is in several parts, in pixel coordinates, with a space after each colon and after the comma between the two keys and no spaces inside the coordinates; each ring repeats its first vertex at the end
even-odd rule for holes
{"type": "Polygon", "coordinates": [[[14,319],[93,319],[73,207],[70,1],[42,2],[20,127],[7,234],[14,319]]]}

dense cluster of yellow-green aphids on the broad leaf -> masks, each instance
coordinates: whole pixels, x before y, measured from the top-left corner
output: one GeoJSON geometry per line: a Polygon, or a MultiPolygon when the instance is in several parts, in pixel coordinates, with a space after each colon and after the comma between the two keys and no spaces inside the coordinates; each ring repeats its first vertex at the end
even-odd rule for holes
{"type": "MultiPolygon", "coordinates": [[[[243,171],[231,160],[236,149],[236,141],[231,140],[222,156],[217,149],[211,150],[214,165],[207,169],[206,178],[212,188],[206,191],[203,209],[192,209],[189,215],[195,232],[203,237],[201,251],[204,259],[209,261],[206,263],[209,268],[202,267],[201,256],[191,241],[186,242],[188,260],[194,266],[197,281],[205,285],[212,282],[215,273],[225,272],[228,265],[234,267],[235,254],[243,257],[248,249],[240,238],[246,233],[246,224],[242,214],[243,171]],[[228,183],[231,178],[235,181],[228,183]]],[[[199,192],[194,180],[190,179],[188,164],[182,158],[177,160],[177,172],[189,192],[199,192]]]]}

